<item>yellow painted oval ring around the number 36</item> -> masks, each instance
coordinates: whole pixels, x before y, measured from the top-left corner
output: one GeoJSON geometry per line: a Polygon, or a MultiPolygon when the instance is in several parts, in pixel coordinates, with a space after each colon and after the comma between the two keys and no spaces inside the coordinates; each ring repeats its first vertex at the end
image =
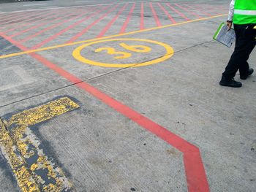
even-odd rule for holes
{"type": "Polygon", "coordinates": [[[101,41],[97,41],[97,42],[90,42],[90,43],[87,43],[85,45],[81,45],[80,47],[77,47],[73,51],[72,55],[78,61],[80,61],[84,64],[90,64],[90,65],[94,65],[94,66],[105,66],[105,67],[129,67],[129,66],[133,66],[133,67],[138,67],[138,66],[147,66],[147,65],[160,63],[162,61],[167,60],[171,56],[173,56],[173,53],[174,53],[173,47],[170,47],[170,45],[167,45],[167,44],[162,43],[162,42],[156,42],[156,41],[148,40],[148,39],[124,39],[123,38],[123,39],[105,39],[105,40],[101,40],[101,41]],[[108,63],[102,63],[102,62],[99,62],[99,61],[92,61],[88,58],[84,58],[81,55],[81,50],[83,50],[84,48],[86,48],[90,45],[98,44],[98,43],[101,43],[101,42],[114,42],[114,41],[149,42],[149,43],[152,43],[152,44],[156,44],[156,45],[160,45],[162,47],[165,47],[166,53],[161,58],[156,58],[152,61],[146,61],[146,62],[143,62],[141,64],[108,64],[108,63]]]}

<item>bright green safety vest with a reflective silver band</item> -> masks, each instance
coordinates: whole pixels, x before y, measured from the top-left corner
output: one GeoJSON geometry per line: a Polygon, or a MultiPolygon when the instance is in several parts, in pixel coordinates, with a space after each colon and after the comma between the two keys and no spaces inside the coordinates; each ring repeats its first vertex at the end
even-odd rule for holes
{"type": "Polygon", "coordinates": [[[236,0],[233,23],[256,24],[256,0],[236,0]]]}

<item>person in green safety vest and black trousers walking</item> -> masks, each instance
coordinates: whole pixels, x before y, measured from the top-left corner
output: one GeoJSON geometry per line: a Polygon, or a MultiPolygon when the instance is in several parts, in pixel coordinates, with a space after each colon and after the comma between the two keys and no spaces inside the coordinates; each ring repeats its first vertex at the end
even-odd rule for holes
{"type": "Polygon", "coordinates": [[[236,47],[219,85],[240,88],[242,83],[233,80],[236,72],[239,70],[241,80],[246,80],[253,73],[247,60],[256,45],[256,0],[232,0],[227,26],[231,28],[232,23],[236,32],[236,47]]]}

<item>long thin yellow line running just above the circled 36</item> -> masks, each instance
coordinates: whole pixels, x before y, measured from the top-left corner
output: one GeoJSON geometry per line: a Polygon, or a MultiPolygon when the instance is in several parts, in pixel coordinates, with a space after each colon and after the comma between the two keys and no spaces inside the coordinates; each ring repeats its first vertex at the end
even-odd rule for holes
{"type": "Polygon", "coordinates": [[[195,20],[189,20],[189,21],[184,21],[184,22],[181,22],[181,23],[174,23],[174,24],[170,24],[170,25],[166,25],[166,26],[147,28],[147,29],[132,31],[132,32],[124,33],[124,34],[111,35],[111,36],[108,36],[108,37],[87,39],[87,40],[80,41],[80,42],[72,42],[72,43],[67,43],[67,44],[55,45],[55,46],[51,46],[51,47],[44,47],[44,48],[40,48],[40,49],[36,49],[36,50],[27,50],[27,51],[23,51],[23,52],[8,54],[8,55],[1,55],[0,59],[1,58],[10,58],[10,57],[18,56],[18,55],[29,54],[29,53],[36,53],[36,52],[40,52],[40,51],[43,51],[43,50],[53,50],[53,49],[60,48],[60,47],[78,45],[78,44],[83,44],[83,43],[86,43],[86,42],[94,42],[94,41],[102,40],[102,39],[110,39],[110,38],[114,38],[114,37],[122,37],[122,36],[130,35],[130,34],[138,34],[138,33],[146,32],[146,31],[154,31],[154,30],[161,29],[161,28],[167,28],[167,27],[172,27],[172,26],[180,26],[180,25],[184,25],[184,24],[187,24],[187,23],[193,23],[193,22],[197,22],[197,21],[201,21],[201,20],[209,20],[209,19],[212,19],[212,18],[219,18],[219,17],[226,16],[226,15],[227,14],[215,15],[215,16],[211,16],[211,17],[208,17],[208,18],[200,18],[200,19],[195,19],[195,20]]]}

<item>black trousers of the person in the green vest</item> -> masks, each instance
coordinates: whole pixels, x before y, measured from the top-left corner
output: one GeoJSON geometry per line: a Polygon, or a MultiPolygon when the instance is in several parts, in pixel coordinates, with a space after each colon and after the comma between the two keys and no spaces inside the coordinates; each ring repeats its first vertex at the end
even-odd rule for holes
{"type": "Polygon", "coordinates": [[[225,72],[222,74],[227,79],[235,77],[238,69],[241,75],[246,75],[248,73],[249,64],[247,63],[247,60],[256,45],[256,30],[253,29],[254,26],[256,26],[256,24],[234,25],[236,32],[236,47],[226,66],[225,72]]]}

